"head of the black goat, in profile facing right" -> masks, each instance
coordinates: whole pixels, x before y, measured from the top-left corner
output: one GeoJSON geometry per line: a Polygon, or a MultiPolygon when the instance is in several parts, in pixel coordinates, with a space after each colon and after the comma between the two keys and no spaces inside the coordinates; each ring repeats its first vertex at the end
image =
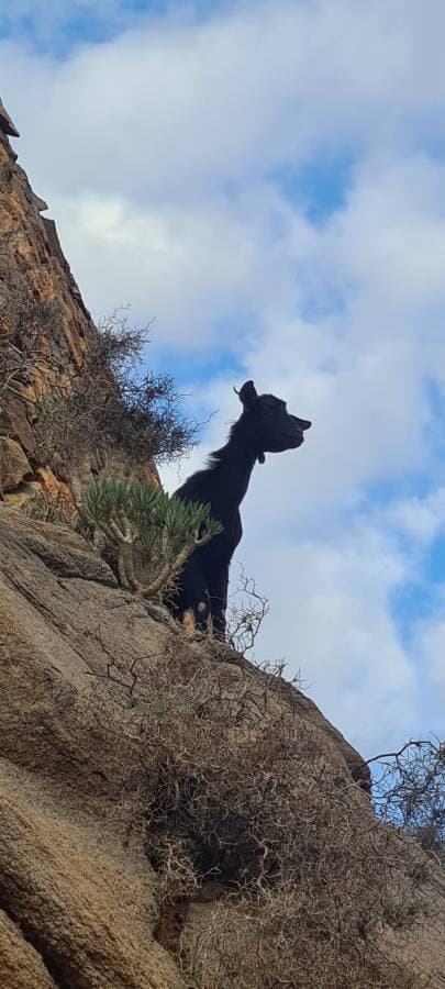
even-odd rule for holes
{"type": "Polygon", "coordinates": [[[275,395],[257,395],[253,381],[246,381],[236,395],[244,409],[244,427],[260,464],[264,464],[265,453],[281,453],[301,446],[304,432],[311,426],[308,419],[291,415],[286,402],[275,395]]]}

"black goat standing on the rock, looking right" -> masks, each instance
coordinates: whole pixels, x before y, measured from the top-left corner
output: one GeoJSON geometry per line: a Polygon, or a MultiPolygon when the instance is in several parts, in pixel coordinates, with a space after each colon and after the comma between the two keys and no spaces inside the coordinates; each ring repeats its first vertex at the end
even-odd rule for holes
{"type": "Polygon", "coordinates": [[[197,627],[209,616],[220,638],[225,635],[229,567],[243,534],[240,504],[247,491],[255,462],[265,453],[296,449],[311,423],[290,415],[286,402],[274,395],[258,396],[253,381],[236,392],[243,412],[232,426],[229,442],[210,455],[209,466],[193,474],[175,493],[186,501],[211,505],[211,514],[224,526],[210,543],[192,553],[180,575],[173,603],[178,618],[192,612],[197,627]]]}

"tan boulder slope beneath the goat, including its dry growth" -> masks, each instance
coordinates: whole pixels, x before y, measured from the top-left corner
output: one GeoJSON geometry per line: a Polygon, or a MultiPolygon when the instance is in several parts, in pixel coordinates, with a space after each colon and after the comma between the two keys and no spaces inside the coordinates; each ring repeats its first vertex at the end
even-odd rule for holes
{"type": "MultiPolygon", "coordinates": [[[[241,866],[247,871],[253,849],[244,840],[243,851],[240,813],[254,815],[258,841],[260,827],[267,832],[270,826],[262,808],[249,803],[252,746],[258,765],[263,753],[266,777],[278,774],[272,814],[289,771],[299,800],[305,801],[293,841],[301,841],[307,863],[315,856],[320,880],[331,877],[334,918],[338,897],[346,896],[349,909],[361,903],[366,911],[376,910],[379,923],[388,915],[389,957],[400,949],[408,959],[398,981],[388,975],[381,982],[375,976],[368,981],[367,964],[360,962],[365,942],[357,943],[358,968],[349,969],[352,957],[343,952],[335,956],[345,948],[344,937],[347,943],[357,936],[353,916],[333,941],[330,956],[322,958],[330,981],[316,982],[303,973],[302,980],[285,985],[418,985],[410,981],[414,959],[431,975],[429,985],[445,985],[444,876],[407,842],[401,848],[392,833],[387,873],[387,841],[380,846],[368,797],[352,779],[360,758],[312,702],[236,654],[216,658],[209,647],[185,643],[179,632],[171,636],[116,587],[107,565],[67,526],[36,522],[3,507],[0,575],[2,986],[281,985],[274,980],[274,959],[269,980],[255,976],[254,982],[243,973],[229,980],[226,969],[220,976],[215,964],[218,952],[226,951],[229,959],[236,955],[233,922],[240,936],[243,916],[233,900],[240,863],[230,863],[223,846],[224,822],[233,814],[231,826],[238,829],[240,854],[245,855],[241,866]],[[210,758],[215,741],[218,765],[210,758]],[[277,754],[276,745],[282,749],[285,742],[287,754],[277,754]],[[236,808],[236,794],[229,789],[233,805],[224,810],[226,787],[232,786],[231,774],[224,778],[230,753],[246,805],[236,808]],[[185,822],[191,820],[187,801],[204,800],[207,793],[210,799],[212,787],[221,796],[213,822],[221,844],[207,847],[213,855],[205,867],[209,875],[196,882],[182,853],[185,845],[192,855],[193,844],[194,852],[204,844],[209,821],[203,813],[202,833],[193,824],[186,835],[185,822]],[[334,849],[329,848],[332,842],[334,849]],[[326,848],[335,853],[332,862],[326,848]],[[376,902],[389,879],[389,900],[376,902]],[[421,912],[405,937],[404,911],[414,901],[422,904],[421,912]],[[426,919],[424,911],[431,908],[426,919]],[[212,944],[215,923],[222,927],[213,953],[207,942],[212,944]],[[198,981],[181,974],[179,949],[181,965],[193,977],[200,974],[198,981]],[[352,973],[351,980],[345,971],[352,973]]],[[[255,793],[264,782],[259,773],[255,793]]],[[[266,798],[263,793],[263,809],[266,798]]],[[[285,836],[281,841],[286,845],[285,836]]],[[[333,916],[316,870],[304,882],[313,884],[314,897],[313,915],[309,910],[309,916],[300,918],[308,936],[308,923],[316,920],[323,932],[333,916]]],[[[248,942],[248,932],[245,936],[248,942]]],[[[301,954],[310,962],[313,951],[320,978],[318,936],[315,927],[312,944],[302,943],[301,954]]],[[[267,958],[264,946],[263,956],[267,958]]]]}

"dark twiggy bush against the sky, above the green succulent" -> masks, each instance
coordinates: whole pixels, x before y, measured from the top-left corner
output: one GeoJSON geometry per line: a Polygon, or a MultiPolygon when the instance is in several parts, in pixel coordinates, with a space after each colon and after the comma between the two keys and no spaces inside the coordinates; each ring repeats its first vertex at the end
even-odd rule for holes
{"type": "Polygon", "coordinates": [[[37,459],[67,479],[87,457],[101,463],[108,447],[135,463],[174,459],[194,442],[196,424],[180,409],[169,375],[141,374],[148,330],[114,312],[89,342],[69,395],[53,391],[40,403],[37,459]]]}

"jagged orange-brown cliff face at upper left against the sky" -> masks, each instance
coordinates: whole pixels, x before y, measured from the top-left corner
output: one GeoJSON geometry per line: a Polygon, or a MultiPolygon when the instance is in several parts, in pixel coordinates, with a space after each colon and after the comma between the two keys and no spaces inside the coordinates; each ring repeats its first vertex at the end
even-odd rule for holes
{"type": "MultiPolygon", "coordinates": [[[[55,223],[41,215],[46,202],[31,189],[7,135],[18,136],[18,132],[0,102],[0,347],[2,337],[13,330],[14,344],[25,355],[14,387],[4,390],[0,380],[0,437],[19,445],[24,464],[35,453],[35,399],[55,388],[69,390],[96,331],[55,223]]],[[[5,500],[20,505],[35,489],[23,486],[8,493],[21,480],[16,480],[19,454],[11,474],[11,451],[10,446],[0,449],[0,484],[5,500]]],[[[159,482],[153,465],[146,466],[145,474],[159,482]]],[[[43,484],[38,471],[34,480],[46,494],[66,500],[66,486],[48,469],[43,484]]]]}

